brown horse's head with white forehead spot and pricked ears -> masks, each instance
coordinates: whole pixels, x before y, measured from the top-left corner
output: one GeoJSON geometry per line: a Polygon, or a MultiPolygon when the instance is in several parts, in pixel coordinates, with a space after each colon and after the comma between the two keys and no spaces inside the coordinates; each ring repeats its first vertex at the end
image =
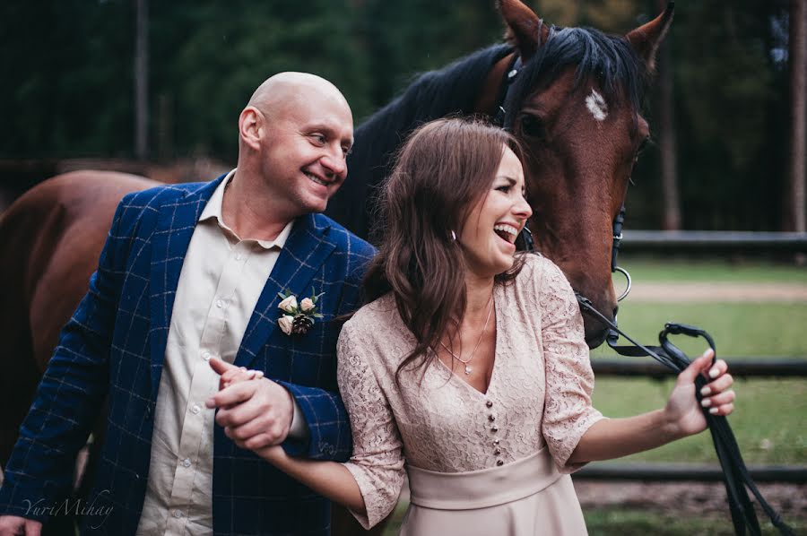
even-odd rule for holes
{"type": "MultiPolygon", "coordinates": [[[[507,94],[504,124],[525,147],[535,248],[614,320],[613,221],[649,137],[641,97],[672,22],[672,3],[624,37],[545,26],[517,0],[502,0],[500,8],[514,53],[489,74],[496,90],[483,94],[507,94]],[[510,82],[507,91],[499,89],[502,81],[510,82]]],[[[603,323],[586,317],[589,346],[601,344],[606,333],[603,323]]]]}

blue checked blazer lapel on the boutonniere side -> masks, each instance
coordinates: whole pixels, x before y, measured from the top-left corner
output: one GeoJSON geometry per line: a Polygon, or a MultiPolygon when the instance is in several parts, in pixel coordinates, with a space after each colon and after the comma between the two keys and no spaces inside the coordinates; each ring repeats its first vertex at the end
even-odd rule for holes
{"type": "Polygon", "coordinates": [[[336,246],[326,239],[325,231],[329,227],[327,223],[318,227],[314,214],[301,216],[294,222],[291,235],[283,246],[249,319],[236,356],[236,366],[248,367],[277,328],[277,319],[280,317],[277,305],[281,301],[278,292],[288,289],[298,298],[308,297],[309,282],[336,246]]]}

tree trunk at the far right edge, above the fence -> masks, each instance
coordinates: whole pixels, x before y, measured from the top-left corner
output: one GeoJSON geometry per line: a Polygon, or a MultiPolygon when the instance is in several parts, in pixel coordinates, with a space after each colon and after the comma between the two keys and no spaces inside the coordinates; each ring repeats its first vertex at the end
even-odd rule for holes
{"type": "Polygon", "coordinates": [[[790,212],[785,229],[807,231],[805,225],[805,150],[807,150],[807,0],[790,3],[790,212]]]}

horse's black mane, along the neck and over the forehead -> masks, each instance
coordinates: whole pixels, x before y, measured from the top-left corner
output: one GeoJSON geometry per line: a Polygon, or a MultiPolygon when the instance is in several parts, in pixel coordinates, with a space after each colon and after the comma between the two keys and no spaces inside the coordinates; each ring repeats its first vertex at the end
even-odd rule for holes
{"type": "MultiPolygon", "coordinates": [[[[377,188],[406,136],[432,119],[473,113],[490,68],[512,51],[509,45],[493,45],[438,71],[421,74],[400,96],[360,125],[355,132],[355,149],[348,158],[348,179],[328,203],[327,215],[368,238],[370,222],[376,219],[377,188]]],[[[571,66],[577,67],[576,88],[594,77],[612,105],[627,98],[633,109],[641,106],[646,69],[625,39],[592,28],[553,26],[550,38],[525,62],[508,92],[505,125],[513,124],[525,99],[571,66]]]]}

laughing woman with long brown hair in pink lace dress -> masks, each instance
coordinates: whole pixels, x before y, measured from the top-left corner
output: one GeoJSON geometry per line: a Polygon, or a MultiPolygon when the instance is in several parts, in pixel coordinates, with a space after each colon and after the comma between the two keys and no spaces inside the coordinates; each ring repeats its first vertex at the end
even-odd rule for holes
{"type": "MultiPolygon", "coordinates": [[[[339,339],[351,416],[345,464],[257,451],[369,527],[408,473],[402,534],[581,534],[568,473],[706,428],[703,403],[733,411],[732,377],[707,351],[664,409],[604,419],[583,322],[549,260],[516,254],[532,211],[521,151],[504,131],[441,119],[412,134],[386,185],[386,239],[367,296],[339,339]]],[[[246,373],[222,376],[227,384],[246,373]]]]}

